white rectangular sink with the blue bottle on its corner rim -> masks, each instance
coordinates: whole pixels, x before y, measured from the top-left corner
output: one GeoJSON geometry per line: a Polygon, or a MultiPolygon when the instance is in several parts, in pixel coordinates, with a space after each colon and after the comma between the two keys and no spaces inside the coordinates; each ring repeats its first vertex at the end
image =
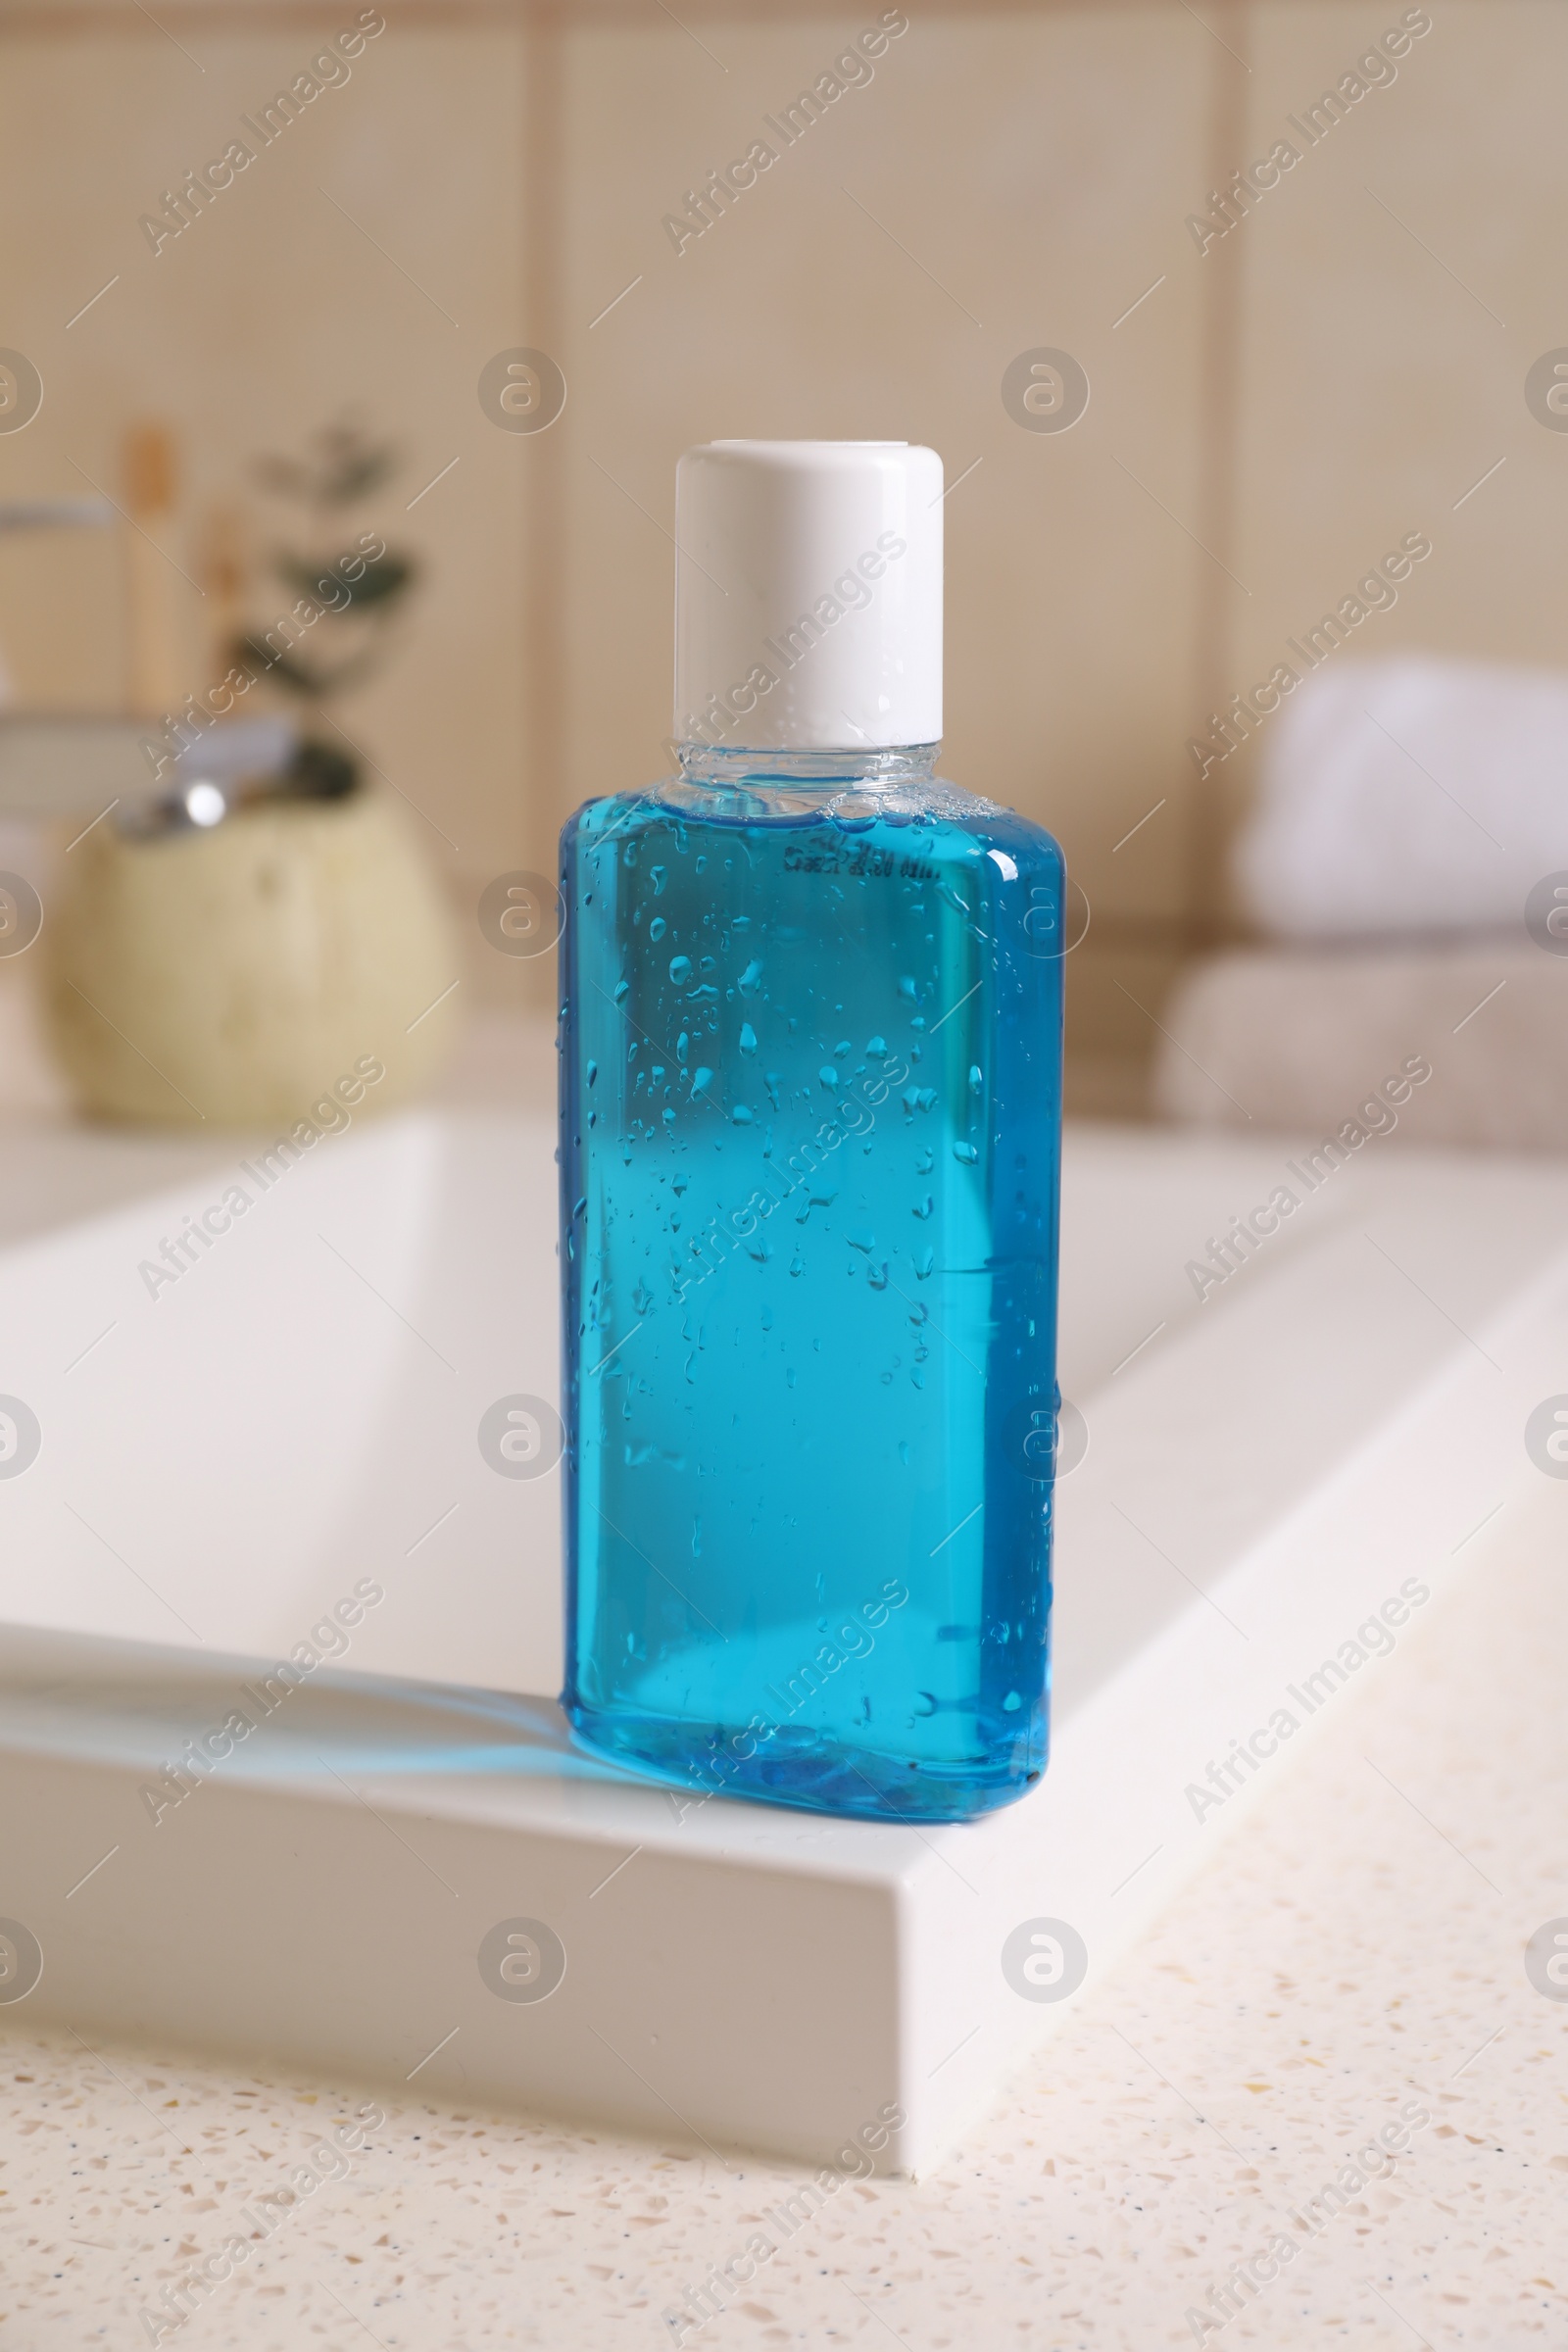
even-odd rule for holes
{"type": "Polygon", "coordinates": [[[898,2107],[884,2161],[924,2166],[1070,2006],[1018,1994],[1009,1936],[1060,1919],[1110,1964],[1246,1802],[1194,1806],[1208,1764],[1540,1479],[1568,1176],[1378,1145],[1199,1303],[1187,1261],[1291,1145],[1072,1136],[1063,1388],[1091,1444],[1060,1489],[1053,1762],[1006,1813],[912,1832],[682,1809],[567,1748],[557,1477],[477,1442],[496,1399],[557,1392],[552,1150],[538,1096],[364,1124],[266,1192],[223,1141],[0,1138],[0,1392],[42,1435],[0,1477],[28,2002],[797,2154],[898,2107]],[[235,1181],[254,1204],[150,1296],[139,1268],[235,1181]],[[183,1740],[367,1583],[277,1722],[160,1804],[183,1740]],[[487,1973],[508,1919],[567,1955],[541,2006],[487,1973]]]}

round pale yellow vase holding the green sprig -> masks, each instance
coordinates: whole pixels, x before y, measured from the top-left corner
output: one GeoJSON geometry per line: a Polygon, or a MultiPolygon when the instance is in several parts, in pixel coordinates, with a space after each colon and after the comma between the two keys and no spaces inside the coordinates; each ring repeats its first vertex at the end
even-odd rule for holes
{"type": "Polygon", "coordinates": [[[40,946],[54,1049],[85,1112],[273,1127],[378,1063],[407,1101],[456,1014],[458,943],[402,811],[371,790],[273,800],[209,833],[94,826],[40,946]]]}

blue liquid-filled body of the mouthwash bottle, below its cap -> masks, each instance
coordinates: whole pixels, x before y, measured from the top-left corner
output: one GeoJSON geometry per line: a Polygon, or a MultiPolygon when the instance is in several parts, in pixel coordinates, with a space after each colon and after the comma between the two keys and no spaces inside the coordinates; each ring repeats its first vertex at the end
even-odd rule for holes
{"type": "Polygon", "coordinates": [[[959,1820],[1046,1764],[1065,884],[884,760],[562,835],[564,1708],[959,1820]]]}

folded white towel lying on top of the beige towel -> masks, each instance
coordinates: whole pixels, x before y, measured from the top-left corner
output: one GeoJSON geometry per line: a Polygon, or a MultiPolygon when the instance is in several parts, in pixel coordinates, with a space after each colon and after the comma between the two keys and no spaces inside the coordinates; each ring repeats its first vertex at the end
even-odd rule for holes
{"type": "Polygon", "coordinates": [[[1519,931],[1566,870],[1568,673],[1335,661],[1265,731],[1237,880],[1267,931],[1519,931]]]}

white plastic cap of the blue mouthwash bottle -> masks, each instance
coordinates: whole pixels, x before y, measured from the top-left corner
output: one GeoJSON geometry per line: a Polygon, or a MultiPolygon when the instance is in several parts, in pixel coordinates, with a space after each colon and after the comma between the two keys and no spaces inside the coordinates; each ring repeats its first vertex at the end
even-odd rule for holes
{"type": "Polygon", "coordinates": [[[708,442],[675,468],[675,734],[891,750],[943,731],[943,461],[708,442]]]}

